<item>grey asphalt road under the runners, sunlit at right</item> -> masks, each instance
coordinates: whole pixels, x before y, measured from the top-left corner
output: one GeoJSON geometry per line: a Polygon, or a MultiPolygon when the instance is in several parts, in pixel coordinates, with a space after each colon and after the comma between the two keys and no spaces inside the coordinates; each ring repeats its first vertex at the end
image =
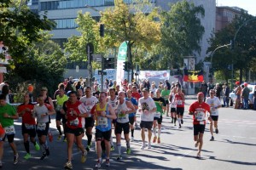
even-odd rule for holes
{"type": "MultiPolygon", "coordinates": [[[[194,147],[191,116],[188,115],[189,104],[195,99],[186,100],[184,123],[181,129],[171,124],[170,117],[164,117],[161,144],[152,144],[152,149],[140,150],[140,129],[135,131],[135,142],[131,143],[131,155],[125,154],[125,140],[122,140],[123,160],[116,161],[117,151],[111,152],[111,166],[101,169],[256,169],[256,111],[221,108],[219,111],[218,129],[215,141],[209,141],[209,125],[204,135],[202,158],[197,159],[194,147]]],[[[52,122],[54,122],[53,120],[52,122]]],[[[15,122],[16,127],[19,122],[15,122]]],[[[55,123],[52,124],[55,133],[55,123]]],[[[17,136],[19,136],[17,134],[17,136]]],[[[114,136],[114,135],[113,135],[114,136]]],[[[13,165],[13,153],[7,144],[4,147],[3,169],[63,169],[67,161],[67,143],[56,141],[49,143],[50,156],[40,161],[40,151],[34,150],[31,144],[32,158],[25,160],[26,152],[22,140],[16,139],[20,161],[13,165]]],[[[115,138],[114,138],[115,142],[115,138]]],[[[86,137],[84,137],[86,144],[86,137]]],[[[85,163],[80,162],[79,150],[73,148],[73,169],[94,169],[96,164],[95,143],[85,163]]]]}

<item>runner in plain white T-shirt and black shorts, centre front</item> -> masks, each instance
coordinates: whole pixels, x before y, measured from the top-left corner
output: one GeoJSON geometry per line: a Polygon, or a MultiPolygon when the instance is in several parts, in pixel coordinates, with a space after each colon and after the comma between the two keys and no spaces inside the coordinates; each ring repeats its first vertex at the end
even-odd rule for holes
{"type": "Polygon", "coordinates": [[[154,122],[154,112],[156,111],[156,105],[154,99],[149,97],[149,89],[143,88],[143,97],[138,100],[138,112],[141,114],[141,133],[143,144],[141,149],[146,148],[145,142],[145,128],[148,129],[148,149],[151,149],[151,137],[152,137],[152,127],[154,122]]]}

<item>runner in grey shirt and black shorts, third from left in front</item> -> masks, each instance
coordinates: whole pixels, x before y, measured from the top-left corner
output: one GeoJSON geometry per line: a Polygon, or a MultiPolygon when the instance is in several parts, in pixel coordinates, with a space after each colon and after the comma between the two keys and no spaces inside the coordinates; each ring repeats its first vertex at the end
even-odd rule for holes
{"type": "Polygon", "coordinates": [[[37,117],[37,133],[39,144],[43,155],[40,160],[44,160],[46,156],[49,156],[49,145],[47,144],[47,134],[49,132],[49,116],[55,114],[54,108],[44,103],[44,96],[38,96],[38,105],[34,106],[33,116],[37,117]]]}

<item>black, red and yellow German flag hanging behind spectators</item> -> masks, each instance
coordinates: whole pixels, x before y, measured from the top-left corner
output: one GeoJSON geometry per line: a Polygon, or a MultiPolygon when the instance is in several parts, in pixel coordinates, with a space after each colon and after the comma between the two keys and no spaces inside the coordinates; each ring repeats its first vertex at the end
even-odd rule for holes
{"type": "Polygon", "coordinates": [[[204,80],[203,71],[192,71],[184,69],[184,82],[202,82],[204,80]]]}

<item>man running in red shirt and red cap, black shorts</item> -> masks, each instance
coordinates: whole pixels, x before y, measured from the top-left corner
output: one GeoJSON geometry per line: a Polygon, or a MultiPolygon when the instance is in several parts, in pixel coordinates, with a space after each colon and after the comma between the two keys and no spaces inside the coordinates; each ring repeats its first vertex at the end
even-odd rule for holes
{"type": "Polygon", "coordinates": [[[206,127],[207,111],[211,115],[210,106],[204,102],[204,94],[197,94],[197,101],[189,106],[189,115],[193,115],[195,147],[199,145],[197,157],[201,158],[203,135],[206,127]]]}

